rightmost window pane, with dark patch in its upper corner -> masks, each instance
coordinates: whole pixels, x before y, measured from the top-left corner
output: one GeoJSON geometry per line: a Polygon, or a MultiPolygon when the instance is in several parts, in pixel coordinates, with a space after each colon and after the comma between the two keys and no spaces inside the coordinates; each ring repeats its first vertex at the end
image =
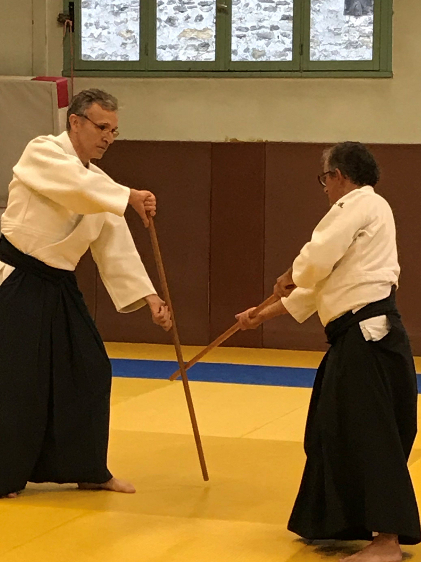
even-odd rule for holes
{"type": "Polygon", "coordinates": [[[311,61],[372,59],[373,0],[311,0],[311,61]]]}

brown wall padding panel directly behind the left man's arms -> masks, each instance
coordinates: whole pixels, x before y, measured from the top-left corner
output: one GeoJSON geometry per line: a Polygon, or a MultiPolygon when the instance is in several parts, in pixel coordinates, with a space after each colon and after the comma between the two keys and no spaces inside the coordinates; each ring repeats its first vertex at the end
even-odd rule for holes
{"type": "MultiPolygon", "coordinates": [[[[159,214],[155,226],[180,339],[197,345],[209,341],[210,161],[210,143],[121,141],[101,162],[117,182],[156,194],[159,214]]],[[[128,209],[126,219],[159,289],[148,232],[133,209],[128,209]]],[[[147,307],[118,314],[101,282],[97,286],[96,321],[107,341],[171,341],[169,334],[151,323],[147,307]]]]}

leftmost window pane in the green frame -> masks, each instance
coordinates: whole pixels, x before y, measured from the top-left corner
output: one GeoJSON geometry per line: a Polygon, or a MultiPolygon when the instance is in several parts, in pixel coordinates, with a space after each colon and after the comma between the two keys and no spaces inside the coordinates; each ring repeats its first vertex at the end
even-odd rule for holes
{"type": "Polygon", "coordinates": [[[82,60],[138,61],[140,0],[82,0],[82,60]]]}

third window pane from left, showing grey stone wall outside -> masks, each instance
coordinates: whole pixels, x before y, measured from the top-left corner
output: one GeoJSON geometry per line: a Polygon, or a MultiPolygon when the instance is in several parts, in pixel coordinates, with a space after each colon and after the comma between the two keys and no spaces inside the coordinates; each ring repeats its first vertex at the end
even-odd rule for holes
{"type": "Polygon", "coordinates": [[[293,0],[233,0],[233,61],[292,60],[293,0]]]}

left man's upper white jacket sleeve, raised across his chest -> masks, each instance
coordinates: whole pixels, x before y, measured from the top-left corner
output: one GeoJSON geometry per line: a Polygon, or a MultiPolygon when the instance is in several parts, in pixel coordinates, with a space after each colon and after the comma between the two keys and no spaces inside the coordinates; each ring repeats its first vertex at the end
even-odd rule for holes
{"type": "Polygon", "coordinates": [[[48,137],[26,146],[13,173],[30,189],[79,215],[111,212],[123,216],[130,189],[105,173],[87,169],[77,156],[48,137]]]}

